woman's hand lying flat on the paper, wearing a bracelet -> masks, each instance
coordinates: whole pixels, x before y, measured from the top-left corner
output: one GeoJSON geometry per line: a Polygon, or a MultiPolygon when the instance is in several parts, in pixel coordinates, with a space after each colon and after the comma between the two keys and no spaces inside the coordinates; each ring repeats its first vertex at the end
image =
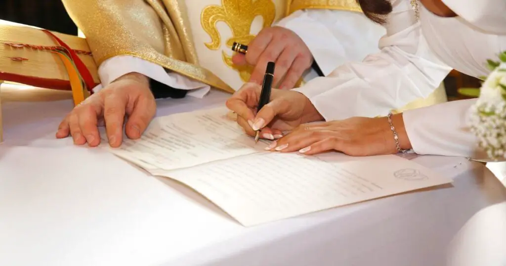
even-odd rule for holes
{"type": "MultiPolygon", "coordinates": [[[[400,148],[410,149],[402,114],[392,117],[400,148]]],[[[287,153],[299,151],[305,155],[329,150],[351,156],[372,156],[398,153],[394,134],[386,117],[354,117],[341,121],[300,125],[267,148],[287,153]]]]}

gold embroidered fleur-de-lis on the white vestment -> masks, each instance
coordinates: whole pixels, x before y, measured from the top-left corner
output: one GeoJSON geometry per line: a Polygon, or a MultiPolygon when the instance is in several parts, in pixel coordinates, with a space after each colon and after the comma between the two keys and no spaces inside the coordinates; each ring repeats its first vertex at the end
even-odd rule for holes
{"type": "MultiPolygon", "coordinates": [[[[200,14],[200,22],[205,32],[211,37],[211,42],[205,46],[217,50],[221,45],[221,36],[216,24],[225,22],[232,31],[232,37],[226,41],[227,47],[234,42],[249,44],[255,35],[251,34],[251,24],[257,16],[263,18],[263,26],[268,27],[274,22],[276,6],[272,0],[222,0],[221,6],[208,6],[200,14]]],[[[222,51],[223,61],[239,72],[241,80],[247,82],[251,73],[251,66],[236,66],[232,58],[222,51]]]]}

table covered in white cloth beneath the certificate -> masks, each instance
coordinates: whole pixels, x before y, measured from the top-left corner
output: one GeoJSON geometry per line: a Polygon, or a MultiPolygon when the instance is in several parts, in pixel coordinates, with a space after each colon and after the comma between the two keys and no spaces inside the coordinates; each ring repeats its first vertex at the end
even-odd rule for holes
{"type": "MultiPolygon", "coordinates": [[[[3,88],[0,265],[506,263],[506,189],[481,164],[418,157],[453,185],[246,228],[183,185],[54,139],[70,95],[35,92],[3,88]]],[[[158,115],[226,96],[162,100],[158,115]]]]}

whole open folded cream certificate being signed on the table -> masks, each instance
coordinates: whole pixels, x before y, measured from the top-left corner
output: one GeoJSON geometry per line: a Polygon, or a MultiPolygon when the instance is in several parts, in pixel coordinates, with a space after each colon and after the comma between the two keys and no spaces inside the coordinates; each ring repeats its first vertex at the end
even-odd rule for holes
{"type": "Polygon", "coordinates": [[[304,156],[267,145],[217,108],[156,118],[141,139],[109,149],[190,186],[244,226],[451,182],[397,156],[304,156]]]}

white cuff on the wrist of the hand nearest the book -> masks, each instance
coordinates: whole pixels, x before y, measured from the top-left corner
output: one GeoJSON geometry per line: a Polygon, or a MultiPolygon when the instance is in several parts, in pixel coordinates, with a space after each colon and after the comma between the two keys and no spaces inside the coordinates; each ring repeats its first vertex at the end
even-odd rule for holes
{"type": "Polygon", "coordinates": [[[187,78],[176,72],[167,72],[157,64],[130,55],[120,55],[111,57],[100,64],[98,75],[101,84],[95,87],[94,91],[99,91],[122,75],[131,72],[143,74],[150,79],[175,89],[190,90],[187,95],[197,98],[203,97],[210,90],[210,87],[206,84],[187,78]]]}

